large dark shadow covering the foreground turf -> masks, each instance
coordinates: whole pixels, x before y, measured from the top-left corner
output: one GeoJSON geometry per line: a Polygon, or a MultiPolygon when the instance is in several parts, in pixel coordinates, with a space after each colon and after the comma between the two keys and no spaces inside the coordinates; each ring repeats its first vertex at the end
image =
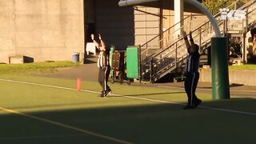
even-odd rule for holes
{"type": "MultiPolygon", "coordinates": [[[[81,134],[81,132],[67,128],[68,126],[134,143],[170,143],[170,136],[171,143],[190,143],[191,141],[194,143],[207,143],[209,139],[212,139],[212,134],[214,134],[215,143],[226,143],[226,141],[231,143],[234,141],[251,143],[250,141],[254,140],[254,134],[247,129],[248,126],[251,128],[255,127],[253,125],[255,117],[245,117],[245,115],[236,114],[235,111],[231,113],[230,111],[225,112],[222,109],[251,110],[255,113],[256,99],[232,98],[222,101],[202,102],[202,106],[222,108],[219,110],[204,108],[183,110],[182,104],[152,104],[152,102],[146,104],[146,101],[142,102],[141,105],[137,103],[136,106],[132,103],[120,106],[115,105],[114,102],[109,104],[106,104],[106,102],[91,108],[80,107],[75,110],[46,109],[45,111],[26,113],[36,117],[34,119],[33,117],[18,114],[0,114],[0,123],[2,123],[0,143],[114,143],[111,140],[90,134],[78,135],[76,137],[49,137],[49,135],[58,134],[81,134]],[[222,122],[217,122],[216,118],[218,116],[224,117],[222,122]],[[61,122],[68,126],[50,124],[37,118],[61,122]],[[233,118],[238,119],[234,121],[233,118]],[[250,121],[244,122],[246,120],[250,121]],[[240,122],[239,125],[237,125],[237,122],[240,122]],[[194,123],[194,125],[190,123],[194,123]],[[200,124],[200,130],[196,130],[194,133],[186,133],[188,129],[197,129],[198,123],[200,124]],[[236,129],[244,129],[239,131],[232,129],[232,127],[226,129],[226,123],[229,123],[228,126],[237,125],[236,129]],[[220,130],[216,127],[225,127],[225,129],[220,130]],[[225,137],[223,137],[224,134],[225,137]],[[233,140],[234,134],[240,136],[233,140]],[[198,135],[202,135],[199,141],[198,135]],[[34,136],[38,136],[38,138],[34,136]]],[[[72,105],[82,104],[90,106],[88,102],[53,104],[53,106],[67,105],[72,108],[72,105]]],[[[48,106],[46,105],[45,107],[47,108],[48,106]]],[[[39,106],[38,108],[41,107],[39,106]]],[[[9,107],[9,109],[14,109],[14,107],[9,107]]]]}

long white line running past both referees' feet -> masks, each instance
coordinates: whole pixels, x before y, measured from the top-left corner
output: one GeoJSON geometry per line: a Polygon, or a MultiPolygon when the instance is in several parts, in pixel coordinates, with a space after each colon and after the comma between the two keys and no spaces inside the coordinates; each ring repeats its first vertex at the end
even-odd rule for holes
{"type": "MultiPolygon", "coordinates": [[[[0,81],[17,82],[17,83],[24,83],[24,84],[35,85],[35,86],[46,86],[46,87],[53,87],[53,88],[64,89],[64,90],[76,90],[73,88],[62,87],[62,86],[50,86],[50,85],[39,84],[39,83],[34,83],[34,82],[20,82],[20,81],[1,79],[1,78],[0,78],[0,81]]],[[[88,92],[88,93],[94,93],[94,94],[100,94],[100,92],[92,91],[92,90],[81,90],[81,91],[88,92]]],[[[110,95],[125,97],[125,98],[132,98],[132,99],[140,99],[140,100],[150,101],[150,102],[160,102],[160,103],[168,103],[168,104],[175,104],[175,105],[182,105],[182,106],[186,105],[186,104],[178,103],[178,102],[168,102],[168,101],[162,101],[162,100],[155,100],[155,99],[151,99],[151,98],[138,98],[138,97],[121,95],[121,94],[110,94],[110,95]]],[[[198,106],[198,107],[204,108],[204,109],[209,109],[209,110],[218,110],[218,111],[230,112],[230,113],[235,113],[235,114],[247,114],[247,115],[256,116],[256,113],[250,113],[250,112],[245,112],[245,111],[240,111],[240,110],[229,110],[229,109],[222,109],[222,108],[214,108],[214,107],[210,107],[210,106],[198,106]]]]}

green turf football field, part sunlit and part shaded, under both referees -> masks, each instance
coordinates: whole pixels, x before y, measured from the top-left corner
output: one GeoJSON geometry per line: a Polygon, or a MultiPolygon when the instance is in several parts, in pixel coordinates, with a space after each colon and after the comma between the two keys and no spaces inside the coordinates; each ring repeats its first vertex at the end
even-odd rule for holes
{"type": "Polygon", "coordinates": [[[256,101],[230,98],[183,110],[183,90],[0,75],[0,143],[253,143],[256,101]]]}

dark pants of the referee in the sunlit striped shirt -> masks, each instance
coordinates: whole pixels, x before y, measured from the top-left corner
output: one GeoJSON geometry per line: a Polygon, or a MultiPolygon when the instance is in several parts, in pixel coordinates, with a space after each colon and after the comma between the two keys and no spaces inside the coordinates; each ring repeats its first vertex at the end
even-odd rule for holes
{"type": "Polygon", "coordinates": [[[110,66],[100,67],[98,70],[98,82],[102,86],[102,92],[110,90],[110,86],[107,85],[107,81],[110,76],[110,66]]]}

